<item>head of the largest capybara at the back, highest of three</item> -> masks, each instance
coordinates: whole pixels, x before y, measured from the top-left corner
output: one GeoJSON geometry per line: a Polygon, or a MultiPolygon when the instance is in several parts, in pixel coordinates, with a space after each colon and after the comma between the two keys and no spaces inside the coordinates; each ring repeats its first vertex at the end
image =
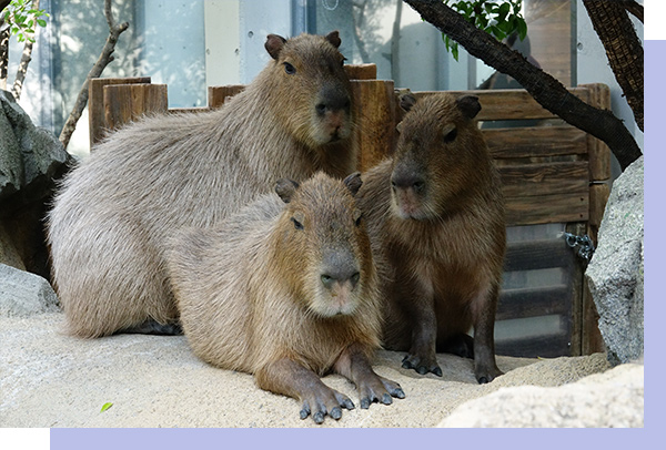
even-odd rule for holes
{"type": "Polygon", "coordinates": [[[279,103],[276,113],[292,135],[312,147],[352,134],[351,83],[340,43],[337,31],[325,37],[301,34],[286,40],[269,34],[266,39],[273,58],[270,94],[279,103]]]}

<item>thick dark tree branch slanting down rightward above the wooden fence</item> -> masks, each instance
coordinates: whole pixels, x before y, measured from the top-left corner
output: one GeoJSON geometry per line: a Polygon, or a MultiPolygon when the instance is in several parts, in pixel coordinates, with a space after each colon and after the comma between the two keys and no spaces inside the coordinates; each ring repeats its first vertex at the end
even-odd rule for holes
{"type": "Polygon", "coordinates": [[[404,1],[423,19],[463,45],[470,54],[513,76],[542,106],[604,141],[623,170],[642,155],[632,133],[610,111],[586,104],[569,93],[559,81],[527,62],[521,53],[465,21],[441,0],[404,1]]]}

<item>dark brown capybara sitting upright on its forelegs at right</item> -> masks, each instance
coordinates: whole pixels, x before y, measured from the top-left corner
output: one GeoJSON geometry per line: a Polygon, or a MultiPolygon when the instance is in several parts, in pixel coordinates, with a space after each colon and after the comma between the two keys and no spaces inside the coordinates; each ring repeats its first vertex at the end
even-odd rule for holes
{"type": "Polygon", "coordinates": [[[442,375],[436,351],[473,357],[477,381],[490,382],[502,375],[493,334],[506,232],[500,175],[473,120],[481,105],[410,99],[395,154],[359,192],[387,299],[383,344],[420,374],[442,375]]]}

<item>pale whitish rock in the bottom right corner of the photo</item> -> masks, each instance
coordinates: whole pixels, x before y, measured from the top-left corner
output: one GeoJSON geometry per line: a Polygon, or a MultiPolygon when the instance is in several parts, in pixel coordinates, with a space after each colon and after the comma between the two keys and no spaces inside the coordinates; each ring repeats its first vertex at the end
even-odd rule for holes
{"type": "Polygon", "coordinates": [[[556,388],[502,388],[456,408],[440,427],[644,426],[644,367],[626,364],[556,388]]]}

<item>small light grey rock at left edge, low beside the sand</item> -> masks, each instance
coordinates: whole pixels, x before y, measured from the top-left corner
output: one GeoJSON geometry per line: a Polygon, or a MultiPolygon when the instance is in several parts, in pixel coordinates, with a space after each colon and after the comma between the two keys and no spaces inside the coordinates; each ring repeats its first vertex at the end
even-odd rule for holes
{"type": "Polygon", "coordinates": [[[58,297],[44,278],[0,264],[0,317],[58,311],[58,297]]]}

